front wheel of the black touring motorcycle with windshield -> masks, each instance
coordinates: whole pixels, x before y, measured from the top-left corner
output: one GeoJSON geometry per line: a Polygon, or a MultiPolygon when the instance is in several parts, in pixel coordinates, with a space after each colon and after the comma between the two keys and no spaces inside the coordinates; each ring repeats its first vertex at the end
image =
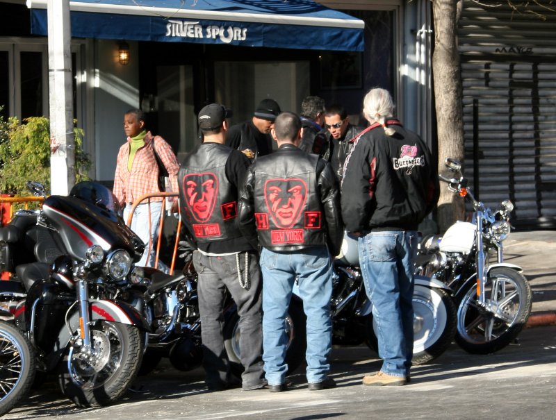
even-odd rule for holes
{"type": "Polygon", "coordinates": [[[99,321],[91,326],[92,355],[69,344],[58,371],[63,394],[80,407],[120,398],[141,367],[144,340],[138,328],[99,321]]]}

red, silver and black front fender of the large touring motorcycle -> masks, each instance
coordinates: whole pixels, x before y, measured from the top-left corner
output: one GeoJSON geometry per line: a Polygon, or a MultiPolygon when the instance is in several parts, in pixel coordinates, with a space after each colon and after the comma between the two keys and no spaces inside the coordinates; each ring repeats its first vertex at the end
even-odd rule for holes
{"type": "MultiPolygon", "coordinates": [[[[133,308],[133,306],[122,301],[112,300],[91,300],[91,321],[111,321],[120,322],[121,324],[133,325],[142,330],[147,331],[149,326],[141,314],[133,308]]],[[[54,345],[53,351],[47,356],[47,371],[56,368],[59,360],[72,339],[73,332],[79,329],[79,312],[74,311],[66,325],[64,325],[58,333],[58,340],[54,345]],[[68,326],[70,329],[68,329],[68,326]]]]}

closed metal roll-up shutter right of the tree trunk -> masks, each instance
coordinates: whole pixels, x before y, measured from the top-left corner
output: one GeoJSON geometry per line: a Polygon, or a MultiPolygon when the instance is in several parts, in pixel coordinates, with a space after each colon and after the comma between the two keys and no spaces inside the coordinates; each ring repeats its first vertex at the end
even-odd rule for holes
{"type": "Polygon", "coordinates": [[[556,227],[556,12],[550,8],[529,3],[520,14],[505,3],[466,0],[459,21],[466,172],[486,205],[512,200],[519,228],[556,227]]]}

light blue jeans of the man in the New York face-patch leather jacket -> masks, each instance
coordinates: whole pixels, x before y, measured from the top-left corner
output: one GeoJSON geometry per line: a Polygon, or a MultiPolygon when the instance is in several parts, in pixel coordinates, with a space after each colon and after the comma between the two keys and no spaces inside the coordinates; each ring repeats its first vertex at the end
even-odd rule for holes
{"type": "Polygon", "coordinates": [[[330,370],[328,356],[332,350],[332,260],[325,246],[298,251],[277,252],[263,248],[263,360],[269,385],[286,382],[285,319],[294,282],[307,317],[306,377],[309,383],[325,380],[330,370]]]}

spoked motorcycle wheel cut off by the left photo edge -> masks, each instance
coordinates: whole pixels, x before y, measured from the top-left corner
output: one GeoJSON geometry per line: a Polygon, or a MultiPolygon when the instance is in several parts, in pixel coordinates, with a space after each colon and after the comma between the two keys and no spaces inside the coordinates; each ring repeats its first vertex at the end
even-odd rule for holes
{"type": "Polygon", "coordinates": [[[0,417],[26,397],[35,370],[35,355],[27,337],[0,321],[0,417]]]}

